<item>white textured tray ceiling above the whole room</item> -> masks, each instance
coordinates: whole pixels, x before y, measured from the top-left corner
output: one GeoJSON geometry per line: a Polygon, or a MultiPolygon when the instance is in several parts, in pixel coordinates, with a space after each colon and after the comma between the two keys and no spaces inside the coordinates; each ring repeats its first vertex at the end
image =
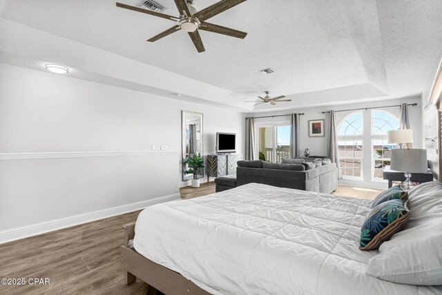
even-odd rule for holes
{"type": "MultiPolygon", "coordinates": [[[[177,15],[172,0],[157,1],[177,15]]],[[[195,8],[216,2],[197,0],[195,8]]],[[[292,102],[255,111],[420,94],[442,51],[441,0],[249,0],[209,20],[247,37],[201,31],[204,53],[184,32],[146,42],[173,21],[115,1],[13,0],[2,9],[0,61],[57,61],[82,79],[248,111],[253,104],[243,101],[265,90],[292,102]],[[126,59],[132,73],[117,73],[112,67],[126,67],[126,59]]]]}

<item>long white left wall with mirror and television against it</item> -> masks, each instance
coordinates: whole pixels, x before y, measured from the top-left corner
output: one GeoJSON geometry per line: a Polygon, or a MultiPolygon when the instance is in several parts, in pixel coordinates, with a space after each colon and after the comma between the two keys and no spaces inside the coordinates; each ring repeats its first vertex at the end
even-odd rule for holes
{"type": "Polygon", "coordinates": [[[182,110],[205,154],[217,131],[242,153],[242,113],[6,64],[0,83],[0,242],[178,198],[182,110]]]}

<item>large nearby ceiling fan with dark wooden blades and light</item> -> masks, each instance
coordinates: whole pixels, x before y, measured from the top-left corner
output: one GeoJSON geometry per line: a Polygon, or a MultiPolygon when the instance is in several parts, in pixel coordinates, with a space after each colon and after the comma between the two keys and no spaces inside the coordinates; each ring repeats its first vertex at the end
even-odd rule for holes
{"type": "Polygon", "coordinates": [[[202,44],[202,40],[200,37],[200,33],[198,30],[206,30],[208,32],[216,32],[218,34],[227,35],[231,37],[236,37],[240,39],[244,39],[247,35],[247,32],[241,32],[239,30],[233,30],[231,28],[226,28],[223,26],[218,26],[213,23],[206,23],[207,19],[214,17],[215,15],[220,14],[233,6],[237,6],[238,4],[247,1],[247,0],[222,0],[218,3],[209,6],[208,8],[204,8],[203,10],[196,11],[193,6],[193,2],[195,0],[174,0],[175,5],[178,8],[178,12],[180,13],[179,17],[173,17],[171,15],[164,15],[160,12],[155,12],[151,10],[146,10],[143,8],[139,8],[136,6],[129,6],[123,3],[117,2],[117,7],[125,8],[128,10],[134,10],[137,12],[146,13],[146,15],[153,15],[155,17],[162,17],[164,19],[170,19],[171,21],[175,21],[177,24],[170,28],[169,30],[165,30],[160,34],[148,39],[149,42],[155,42],[162,37],[166,37],[167,35],[171,35],[173,32],[177,32],[178,30],[184,30],[189,33],[193,44],[195,45],[198,53],[202,53],[205,51],[204,45],[202,44]]]}

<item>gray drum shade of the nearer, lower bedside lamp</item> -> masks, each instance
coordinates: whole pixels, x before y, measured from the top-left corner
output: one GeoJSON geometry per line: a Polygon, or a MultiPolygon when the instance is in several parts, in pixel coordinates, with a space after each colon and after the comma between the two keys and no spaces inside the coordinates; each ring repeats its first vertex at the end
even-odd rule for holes
{"type": "Polygon", "coordinates": [[[393,149],[390,169],[411,173],[427,172],[427,150],[393,149]]]}

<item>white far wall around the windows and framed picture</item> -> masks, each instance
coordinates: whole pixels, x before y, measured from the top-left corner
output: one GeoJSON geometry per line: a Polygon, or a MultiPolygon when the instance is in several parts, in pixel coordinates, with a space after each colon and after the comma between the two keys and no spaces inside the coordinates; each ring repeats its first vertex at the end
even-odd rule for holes
{"type": "MultiPolygon", "coordinates": [[[[320,106],[316,108],[299,108],[292,109],[289,111],[281,111],[281,112],[268,112],[268,113],[249,113],[247,117],[260,117],[260,116],[269,116],[269,115],[285,115],[289,113],[305,113],[300,117],[300,152],[303,156],[304,150],[309,149],[310,155],[327,155],[327,140],[328,140],[328,129],[329,129],[329,115],[322,114],[323,111],[340,111],[347,110],[352,108],[367,108],[367,107],[376,107],[381,110],[389,111],[393,115],[398,117],[400,115],[400,108],[383,108],[383,106],[391,106],[401,104],[403,102],[407,102],[407,104],[412,104],[414,102],[418,103],[418,106],[409,106],[408,111],[410,115],[410,126],[414,129],[413,137],[414,144],[413,147],[416,149],[422,148],[423,141],[421,137],[422,126],[422,105],[421,105],[421,97],[407,97],[403,99],[391,99],[383,102],[369,102],[369,103],[360,103],[360,104],[345,104],[340,106],[320,106]],[[325,137],[309,137],[308,134],[308,121],[309,120],[318,120],[325,119],[325,137]]],[[[352,112],[340,112],[336,113],[336,124],[339,124],[343,118],[349,115],[352,112]]],[[[365,116],[367,117],[367,116],[365,116]]],[[[290,117],[270,117],[270,118],[262,118],[256,119],[255,123],[260,124],[263,122],[271,123],[271,122],[285,122],[290,124],[290,117]]],[[[365,124],[369,124],[369,122],[365,122],[365,124]]],[[[369,167],[365,167],[364,175],[371,175],[371,171],[369,171],[369,167]]],[[[340,181],[341,184],[352,184],[352,185],[361,185],[366,187],[386,187],[385,183],[378,182],[370,182],[368,177],[365,181],[340,181]]]]}

